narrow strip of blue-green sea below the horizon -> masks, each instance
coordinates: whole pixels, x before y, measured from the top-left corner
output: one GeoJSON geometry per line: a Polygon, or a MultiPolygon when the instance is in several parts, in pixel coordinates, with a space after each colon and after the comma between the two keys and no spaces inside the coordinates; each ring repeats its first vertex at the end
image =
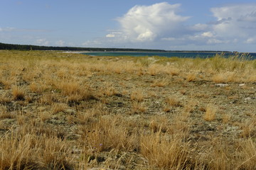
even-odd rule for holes
{"type": "MultiPolygon", "coordinates": [[[[181,58],[209,58],[215,55],[222,55],[223,57],[230,57],[237,55],[238,53],[233,52],[83,52],[84,55],[91,56],[132,56],[132,57],[181,57],[181,58]]],[[[239,53],[240,56],[245,56],[247,60],[256,60],[256,53],[239,53]]]]}

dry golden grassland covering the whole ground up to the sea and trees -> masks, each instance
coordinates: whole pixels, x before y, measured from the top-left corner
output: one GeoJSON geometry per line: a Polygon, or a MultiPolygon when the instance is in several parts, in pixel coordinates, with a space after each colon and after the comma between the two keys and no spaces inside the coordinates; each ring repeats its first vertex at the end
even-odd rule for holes
{"type": "Polygon", "coordinates": [[[256,61],[0,51],[0,169],[256,169],[256,61]]]}

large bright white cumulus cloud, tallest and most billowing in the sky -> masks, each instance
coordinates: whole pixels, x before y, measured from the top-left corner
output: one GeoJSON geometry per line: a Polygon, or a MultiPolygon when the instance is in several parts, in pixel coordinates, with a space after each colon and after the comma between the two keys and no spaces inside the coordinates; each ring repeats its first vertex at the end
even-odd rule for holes
{"type": "Polygon", "coordinates": [[[134,6],[124,16],[118,18],[123,37],[132,42],[153,41],[181,33],[182,23],[189,16],[177,14],[181,4],[166,2],[151,6],[134,6]]]}

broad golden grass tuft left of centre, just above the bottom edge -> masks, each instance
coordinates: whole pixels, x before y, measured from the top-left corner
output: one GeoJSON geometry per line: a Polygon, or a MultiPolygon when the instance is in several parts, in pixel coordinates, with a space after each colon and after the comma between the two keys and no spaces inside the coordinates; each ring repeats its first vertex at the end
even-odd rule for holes
{"type": "Polygon", "coordinates": [[[119,116],[107,116],[89,125],[80,125],[80,142],[87,143],[95,152],[111,149],[130,151],[137,148],[137,137],[130,135],[125,122],[119,116]]]}

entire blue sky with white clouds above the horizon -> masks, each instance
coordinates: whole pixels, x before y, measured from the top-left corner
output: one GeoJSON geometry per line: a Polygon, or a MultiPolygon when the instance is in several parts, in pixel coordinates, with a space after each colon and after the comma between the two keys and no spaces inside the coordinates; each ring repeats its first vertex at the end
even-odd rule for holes
{"type": "Polygon", "coordinates": [[[256,52],[255,0],[0,0],[0,42],[256,52]]]}

